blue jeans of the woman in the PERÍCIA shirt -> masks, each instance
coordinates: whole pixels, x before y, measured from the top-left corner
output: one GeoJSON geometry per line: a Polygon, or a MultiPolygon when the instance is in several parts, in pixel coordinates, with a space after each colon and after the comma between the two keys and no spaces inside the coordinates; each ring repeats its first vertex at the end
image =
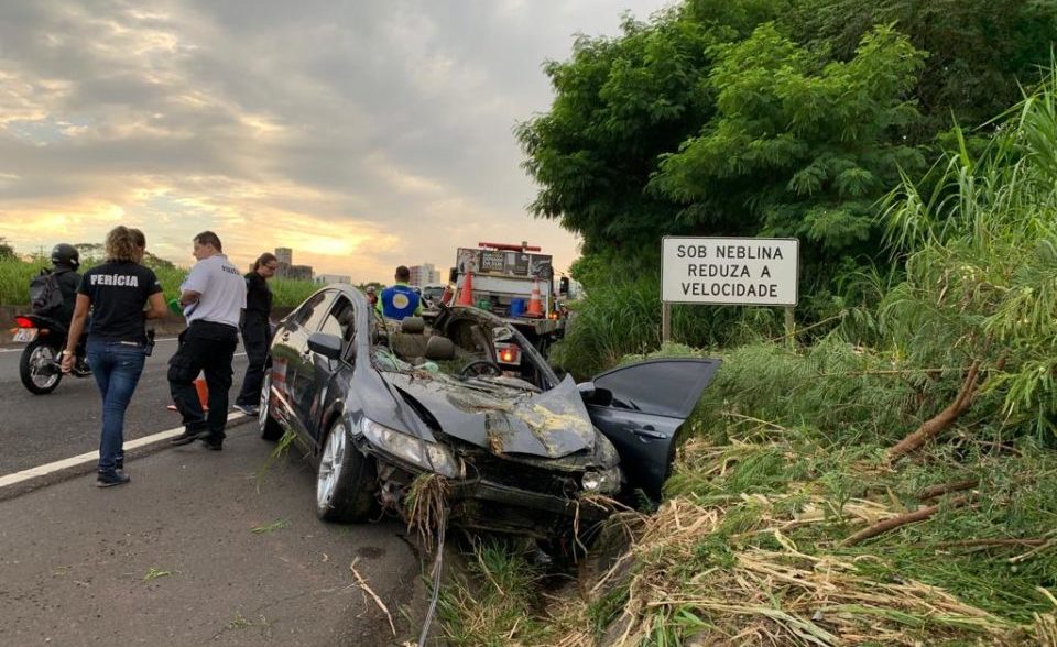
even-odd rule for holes
{"type": "Polygon", "coordinates": [[[112,472],[124,459],[124,409],[135,392],[146,361],[143,346],[88,339],[88,365],[102,395],[102,438],[99,471],[112,472]]]}

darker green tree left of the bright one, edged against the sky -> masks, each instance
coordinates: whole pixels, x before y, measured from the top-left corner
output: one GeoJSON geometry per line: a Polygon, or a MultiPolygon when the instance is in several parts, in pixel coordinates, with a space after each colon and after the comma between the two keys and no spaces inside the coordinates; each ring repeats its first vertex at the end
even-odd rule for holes
{"type": "Polygon", "coordinates": [[[748,36],[778,4],[716,2],[707,19],[677,9],[649,24],[625,19],[620,37],[580,36],[569,61],[547,63],[554,103],[517,129],[540,185],[533,212],[582,234],[588,254],[638,250],[658,223],[674,224],[682,206],[646,184],[660,156],[715,114],[701,83],[712,47],[748,36]]]}

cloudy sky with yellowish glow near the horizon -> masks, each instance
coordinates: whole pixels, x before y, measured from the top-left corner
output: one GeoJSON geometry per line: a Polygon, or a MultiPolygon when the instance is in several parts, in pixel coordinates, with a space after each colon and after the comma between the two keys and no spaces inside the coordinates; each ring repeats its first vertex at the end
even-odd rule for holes
{"type": "Polygon", "coordinates": [[[528,215],[514,127],[575,35],[665,0],[0,0],[0,237],[19,252],[116,224],[189,266],[216,231],[389,282],[458,246],[577,239],[528,215]]]}

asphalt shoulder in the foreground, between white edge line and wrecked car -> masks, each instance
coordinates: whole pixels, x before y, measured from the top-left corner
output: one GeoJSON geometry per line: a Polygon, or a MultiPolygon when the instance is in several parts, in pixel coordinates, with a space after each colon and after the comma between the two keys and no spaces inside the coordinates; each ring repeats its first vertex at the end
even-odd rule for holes
{"type": "Polygon", "coordinates": [[[400,645],[422,568],[393,520],[335,525],[297,452],[253,425],[0,501],[0,645],[400,645]],[[259,480],[262,475],[263,480],[259,480]],[[355,564],[385,613],[356,582],[355,564]]]}

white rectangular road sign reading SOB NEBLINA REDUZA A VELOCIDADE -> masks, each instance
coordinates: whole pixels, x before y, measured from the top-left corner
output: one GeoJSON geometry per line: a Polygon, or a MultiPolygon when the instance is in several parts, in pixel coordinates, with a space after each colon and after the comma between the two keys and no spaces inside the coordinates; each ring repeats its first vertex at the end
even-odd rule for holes
{"type": "Polygon", "coordinates": [[[785,238],[664,238],[661,300],[669,304],[795,306],[799,241],[785,238]]]}

